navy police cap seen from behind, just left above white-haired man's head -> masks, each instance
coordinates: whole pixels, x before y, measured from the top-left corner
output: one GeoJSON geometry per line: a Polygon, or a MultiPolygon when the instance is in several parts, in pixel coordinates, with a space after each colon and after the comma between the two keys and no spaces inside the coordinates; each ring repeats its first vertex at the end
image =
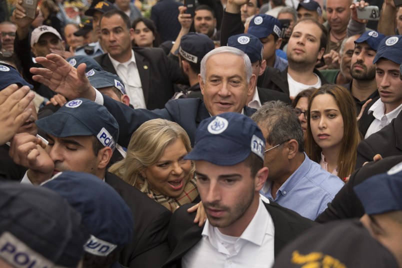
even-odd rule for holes
{"type": "Polygon", "coordinates": [[[189,32],[181,37],[178,53],[188,61],[199,63],[214,48],[213,41],[207,35],[189,32]]]}

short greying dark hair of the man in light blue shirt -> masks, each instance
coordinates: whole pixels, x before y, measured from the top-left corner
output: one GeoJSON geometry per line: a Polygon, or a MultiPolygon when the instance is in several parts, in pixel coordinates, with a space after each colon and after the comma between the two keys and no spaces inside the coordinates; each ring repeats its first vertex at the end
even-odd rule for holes
{"type": "Polygon", "coordinates": [[[286,139],[295,139],[298,151],[304,151],[303,129],[291,106],[280,100],[267,101],[251,115],[251,119],[269,129],[265,137],[269,144],[276,145],[286,139]]]}

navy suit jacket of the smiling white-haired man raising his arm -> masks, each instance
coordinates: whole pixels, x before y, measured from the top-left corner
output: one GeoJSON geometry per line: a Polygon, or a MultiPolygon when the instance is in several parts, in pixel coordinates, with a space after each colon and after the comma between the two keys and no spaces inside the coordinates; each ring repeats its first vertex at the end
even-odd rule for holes
{"type": "MultiPolygon", "coordinates": [[[[180,98],[168,101],[163,109],[131,109],[121,102],[103,95],[103,105],[116,118],[119,127],[118,144],[128,146],[131,134],[145,121],[164,118],[181,125],[194,145],[195,130],[199,123],[210,117],[203,100],[199,98],[180,98]]],[[[255,109],[244,106],[244,114],[251,116],[255,109]]]]}

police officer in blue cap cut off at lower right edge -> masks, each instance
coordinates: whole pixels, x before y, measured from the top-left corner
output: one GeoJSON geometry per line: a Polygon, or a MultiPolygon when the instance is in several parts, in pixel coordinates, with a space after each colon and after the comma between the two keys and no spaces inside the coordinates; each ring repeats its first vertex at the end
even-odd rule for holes
{"type": "Polygon", "coordinates": [[[402,267],[402,162],[353,189],[365,211],[360,221],[402,267]]]}

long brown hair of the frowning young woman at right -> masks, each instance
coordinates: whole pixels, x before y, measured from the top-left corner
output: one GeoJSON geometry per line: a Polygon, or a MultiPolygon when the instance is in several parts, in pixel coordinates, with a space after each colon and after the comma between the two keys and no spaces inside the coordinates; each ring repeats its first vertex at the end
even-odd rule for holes
{"type": "MultiPolygon", "coordinates": [[[[357,144],[360,141],[360,134],[357,128],[356,104],[353,97],[346,88],[336,84],[325,84],[312,93],[308,101],[308,111],[311,109],[313,99],[320,94],[330,94],[336,101],[343,119],[342,146],[338,157],[338,177],[348,176],[356,164],[357,144]]],[[[321,159],[321,148],[315,142],[311,132],[310,114],[307,116],[307,129],[305,136],[305,152],[308,157],[316,162],[321,159]]]]}

